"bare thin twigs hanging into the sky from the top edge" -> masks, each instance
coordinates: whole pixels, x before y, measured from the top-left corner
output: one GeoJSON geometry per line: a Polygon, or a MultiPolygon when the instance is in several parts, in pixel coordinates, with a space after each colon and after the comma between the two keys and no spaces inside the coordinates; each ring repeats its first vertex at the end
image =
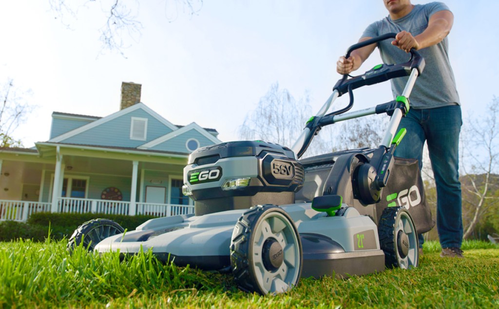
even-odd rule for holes
{"type": "MultiPolygon", "coordinates": [[[[179,9],[191,16],[199,12],[203,6],[203,0],[164,0],[165,11],[172,13],[169,21],[177,18],[179,9]]],[[[49,0],[55,18],[70,27],[69,19],[76,19],[79,9],[82,7],[100,9],[102,13],[102,26],[99,29],[99,40],[102,50],[118,51],[123,54],[122,49],[128,47],[126,44],[128,36],[137,41],[141,34],[142,23],[137,19],[139,1],[133,0],[49,0]]]]}

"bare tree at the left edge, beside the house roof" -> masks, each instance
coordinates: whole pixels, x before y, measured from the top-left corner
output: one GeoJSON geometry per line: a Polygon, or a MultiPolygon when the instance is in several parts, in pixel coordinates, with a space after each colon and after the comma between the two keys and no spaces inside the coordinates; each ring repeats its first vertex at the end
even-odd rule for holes
{"type": "Polygon", "coordinates": [[[22,143],[12,137],[17,126],[26,120],[33,110],[24,95],[29,92],[19,91],[12,79],[8,79],[0,89],[0,147],[21,147],[22,143]]]}

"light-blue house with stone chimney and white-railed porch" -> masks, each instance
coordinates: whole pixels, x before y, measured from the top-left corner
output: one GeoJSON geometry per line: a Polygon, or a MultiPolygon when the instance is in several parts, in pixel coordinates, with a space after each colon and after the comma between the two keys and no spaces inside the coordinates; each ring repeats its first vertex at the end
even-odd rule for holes
{"type": "Polygon", "coordinates": [[[194,212],[182,194],[189,154],[217,144],[215,129],[178,126],[122,83],[121,108],[106,117],[52,113],[50,139],[0,149],[0,220],[38,211],[153,214],[194,212]]]}

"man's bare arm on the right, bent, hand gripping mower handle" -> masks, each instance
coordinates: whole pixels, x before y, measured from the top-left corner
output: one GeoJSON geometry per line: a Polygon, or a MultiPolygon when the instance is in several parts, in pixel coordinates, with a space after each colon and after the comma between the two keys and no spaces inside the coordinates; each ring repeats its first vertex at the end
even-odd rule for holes
{"type": "Polygon", "coordinates": [[[411,48],[423,49],[438,44],[449,34],[453,23],[454,15],[451,11],[438,11],[430,17],[428,27],[421,34],[412,36],[410,32],[401,31],[392,44],[406,52],[411,48]]]}

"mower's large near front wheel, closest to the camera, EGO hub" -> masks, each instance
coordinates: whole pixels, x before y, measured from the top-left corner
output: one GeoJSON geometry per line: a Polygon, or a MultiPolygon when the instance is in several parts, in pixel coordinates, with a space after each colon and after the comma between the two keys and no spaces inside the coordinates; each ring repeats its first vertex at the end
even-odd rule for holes
{"type": "Polygon", "coordinates": [[[301,241],[293,220],[275,205],[258,205],[239,218],[231,240],[231,267],[240,289],[261,295],[298,284],[301,241]]]}

